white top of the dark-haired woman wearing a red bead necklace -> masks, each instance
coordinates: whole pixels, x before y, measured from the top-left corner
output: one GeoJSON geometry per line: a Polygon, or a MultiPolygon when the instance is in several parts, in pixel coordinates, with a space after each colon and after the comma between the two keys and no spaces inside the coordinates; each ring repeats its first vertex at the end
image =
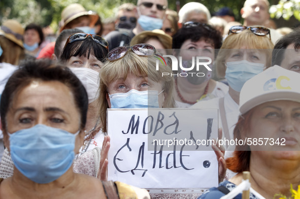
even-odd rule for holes
{"type": "MultiPolygon", "coordinates": [[[[209,101],[213,98],[223,97],[228,92],[228,86],[222,82],[216,82],[216,86],[212,93],[208,94],[206,97],[204,97],[200,102],[203,101],[209,101]]],[[[184,102],[176,101],[177,108],[189,108],[192,105],[184,102]]],[[[197,104],[197,103],[196,103],[197,104]]]]}

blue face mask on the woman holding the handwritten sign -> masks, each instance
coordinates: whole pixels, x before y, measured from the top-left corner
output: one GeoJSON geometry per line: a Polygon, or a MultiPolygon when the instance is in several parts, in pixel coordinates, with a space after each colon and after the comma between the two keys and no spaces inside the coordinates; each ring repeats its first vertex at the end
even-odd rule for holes
{"type": "MultiPolygon", "coordinates": [[[[163,91],[163,90],[162,90],[163,91]]],[[[161,91],[161,92],[162,92],[161,91]]],[[[161,93],[160,92],[160,93],[161,93]]],[[[159,108],[156,90],[129,90],[126,93],[110,94],[111,107],[114,108],[159,108]]]]}

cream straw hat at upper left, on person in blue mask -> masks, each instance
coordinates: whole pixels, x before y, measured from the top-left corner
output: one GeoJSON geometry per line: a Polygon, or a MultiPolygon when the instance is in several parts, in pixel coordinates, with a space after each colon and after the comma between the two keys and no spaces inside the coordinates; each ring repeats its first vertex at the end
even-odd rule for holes
{"type": "Polygon", "coordinates": [[[59,31],[61,32],[64,29],[65,25],[71,22],[72,20],[84,15],[88,15],[90,17],[90,26],[93,26],[99,18],[97,13],[93,11],[86,11],[85,8],[83,8],[83,6],[81,6],[80,4],[71,4],[65,7],[61,12],[62,25],[59,31]]]}

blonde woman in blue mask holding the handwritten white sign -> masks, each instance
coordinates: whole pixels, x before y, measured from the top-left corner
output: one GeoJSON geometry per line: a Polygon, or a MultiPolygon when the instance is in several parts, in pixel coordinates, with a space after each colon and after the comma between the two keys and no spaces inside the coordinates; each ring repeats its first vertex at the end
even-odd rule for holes
{"type": "MultiPolygon", "coordinates": [[[[118,47],[109,52],[108,61],[101,71],[101,93],[98,98],[102,124],[107,124],[108,108],[175,107],[174,78],[162,76],[163,73],[171,74],[171,68],[168,63],[160,62],[157,57],[159,55],[156,54],[156,49],[148,44],[118,47]],[[157,64],[158,68],[156,68],[157,64]]],[[[103,125],[103,132],[107,132],[106,125],[103,125]]],[[[216,151],[216,154],[219,160],[219,177],[223,179],[224,154],[221,151],[216,151]]],[[[153,198],[186,198],[191,195],[155,194],[152,196],[153,198]]]]}

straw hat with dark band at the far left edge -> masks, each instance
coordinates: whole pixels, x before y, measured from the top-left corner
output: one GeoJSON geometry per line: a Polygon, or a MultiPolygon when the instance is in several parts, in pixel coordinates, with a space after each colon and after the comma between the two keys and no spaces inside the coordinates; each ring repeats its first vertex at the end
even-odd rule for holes
{"type": "Polygon", "coordinates": [[[0,27],[0,35],[3,35],[4,37],[18,44],[22,48],[23,48],[23,42],[22,42],[23,34],[24,34],[24,28],[18,21],[14,19],[9,19],[4,21],[0,27]]]}

